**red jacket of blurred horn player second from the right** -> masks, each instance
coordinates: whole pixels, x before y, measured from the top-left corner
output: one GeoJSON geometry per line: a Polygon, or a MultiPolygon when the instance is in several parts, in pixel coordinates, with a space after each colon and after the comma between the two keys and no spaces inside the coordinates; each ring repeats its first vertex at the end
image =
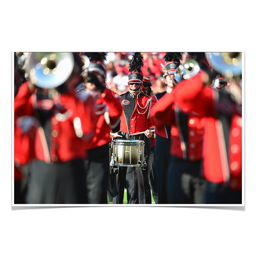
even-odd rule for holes
{"type": "MultiPolygon", "coordinates": [[[[180,111],[175,103],[174,90],[176,88],[154,105],[150,116],[162,131],[164,124],[171,125],[170,154],[194,162],[202,158],[203,125],[198,113],[185,108],[180,111]]],[[[164,131],[161,134],[164,135],[164,131]]]]}

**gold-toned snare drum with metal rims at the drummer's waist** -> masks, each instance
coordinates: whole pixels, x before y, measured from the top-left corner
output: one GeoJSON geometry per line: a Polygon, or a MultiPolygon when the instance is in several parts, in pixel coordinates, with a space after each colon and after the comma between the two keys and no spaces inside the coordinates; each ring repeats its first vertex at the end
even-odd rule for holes
{"type": "Polygon", "coordinates": [[[143,140],[114,140],[113,157],[116,166],[143,166],[144,147],[143,140]]]}

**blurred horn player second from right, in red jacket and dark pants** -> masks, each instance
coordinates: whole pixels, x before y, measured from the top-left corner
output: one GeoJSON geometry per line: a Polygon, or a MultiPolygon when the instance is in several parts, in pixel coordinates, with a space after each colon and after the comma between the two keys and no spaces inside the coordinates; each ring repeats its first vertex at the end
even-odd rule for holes
{"type": "MultiPolygon", "coordinates": [[[[194,52],[189,54],[189,58],[200,61],[200,68],[209,69],[204,55],[194,52]]],[[[190,92],[193,92],[193,77],[186,80],[186,83],[191,86],[190,92]]],[[[177,105],[175,91],[179,89],[180,84],[181,82],[172,93],[166,93],[151,112],[159,121],[171,120],[172,125],[172,160],[168,166],[166,179],[167,203],[204,204],[206,180],[200,173],[204,125],[196,111],[177,105]]]]}

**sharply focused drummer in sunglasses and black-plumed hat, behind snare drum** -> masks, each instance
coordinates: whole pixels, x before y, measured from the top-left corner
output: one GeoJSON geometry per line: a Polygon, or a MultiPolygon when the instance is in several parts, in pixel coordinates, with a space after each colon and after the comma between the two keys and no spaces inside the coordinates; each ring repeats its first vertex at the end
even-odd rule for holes
{"type": "MultiPolygon", "coordinates": [[[[142,66],[143,56],[140,52],[135,52],[129,67],[129,92],[120,95],[124,110],[120,116],[121,122],[118,134],[127,140],[144,140],[145,136],[150,138],[153,134],[149,129],[154,128],[154,125],[148,119],[151,98],[140,92],[143,86],[142,66]],[[132,136],[134,133],[143,131],[145,131],[144,134],[132,136]]],[[[147,146],[145,145],[145,154],[149,156],[150,152],[146,152],[146,150],[147,146]]],[[[147,171],[131,166],[120,167],[116,174],[113,204],[123,204],[125,177],[128,204],[151,204],[147,171]]]]}

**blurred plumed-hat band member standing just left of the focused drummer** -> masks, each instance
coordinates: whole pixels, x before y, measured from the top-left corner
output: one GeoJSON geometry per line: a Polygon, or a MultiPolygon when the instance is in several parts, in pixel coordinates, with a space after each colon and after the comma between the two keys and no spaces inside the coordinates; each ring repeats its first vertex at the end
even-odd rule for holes
{"type": "Polygon", "coordinates": [[[111,142],[109,132],[119,123],[122,114],[120,97],[105,86],[106,68],[103,61],[106,60],[104,52],[86,53],[90,59],[87,70],[82,72],[86,90],[77,92],[83,95],[93,95],[95,100],[95,113],[97,115],[97,127],[92,140],[84,144],[88,152],[85,159],[88,167],[86,184],[88,189],[89,204],[108,204],[107,190],[109,180],[109,147],[111,142]]]}

